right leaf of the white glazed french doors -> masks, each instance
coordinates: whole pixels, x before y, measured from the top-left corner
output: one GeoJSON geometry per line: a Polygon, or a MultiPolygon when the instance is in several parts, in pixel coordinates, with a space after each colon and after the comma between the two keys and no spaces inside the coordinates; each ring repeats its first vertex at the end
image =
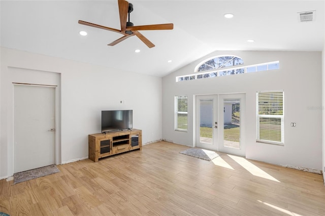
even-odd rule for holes
{"type": "Polygon", "coordinates": [[[245,94],[220,94],[218,104],[218,151],[245,156],[245,94]]]}

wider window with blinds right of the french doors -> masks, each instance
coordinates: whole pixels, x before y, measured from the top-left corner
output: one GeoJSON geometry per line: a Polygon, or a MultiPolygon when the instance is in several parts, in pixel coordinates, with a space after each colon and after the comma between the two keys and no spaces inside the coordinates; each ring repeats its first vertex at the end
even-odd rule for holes
{"type": "Polygon", "coordinates": [[[283,91],[256,93],[256,141],[284,144],[283,91]]]}

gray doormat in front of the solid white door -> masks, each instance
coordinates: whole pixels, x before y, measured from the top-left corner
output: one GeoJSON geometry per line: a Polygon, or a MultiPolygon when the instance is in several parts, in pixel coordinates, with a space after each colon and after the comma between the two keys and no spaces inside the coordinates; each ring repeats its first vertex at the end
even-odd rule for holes
{"type": "Polygon", "coordinates": [[[31,169],[23,172],[17,172],[14,174],[14,184],[25,182],[34,178],[50,175],[60,170],[55,164],[44,166],[36,169],[31,169]]]}

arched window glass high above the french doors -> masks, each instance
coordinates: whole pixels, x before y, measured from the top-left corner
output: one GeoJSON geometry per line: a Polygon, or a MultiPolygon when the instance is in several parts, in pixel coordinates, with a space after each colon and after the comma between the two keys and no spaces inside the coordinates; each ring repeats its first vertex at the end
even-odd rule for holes
{"type": "Polygon", "coordinates": [[[207,71],[207,70],[217,70],[219,68],[231,67],[236,65],[244,64],[242,58],[237,56],[216,56],[201,62],[196,66],[195,72],[207,71]]]}

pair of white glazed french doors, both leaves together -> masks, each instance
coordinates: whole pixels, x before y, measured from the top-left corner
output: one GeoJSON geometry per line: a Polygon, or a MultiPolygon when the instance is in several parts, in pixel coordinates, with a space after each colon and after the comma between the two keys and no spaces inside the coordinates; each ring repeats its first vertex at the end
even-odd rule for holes
{"type": "Polygon", "coordinates": [[[245,156],[245,94],[198,95],[196,147],[245,156]]]}

